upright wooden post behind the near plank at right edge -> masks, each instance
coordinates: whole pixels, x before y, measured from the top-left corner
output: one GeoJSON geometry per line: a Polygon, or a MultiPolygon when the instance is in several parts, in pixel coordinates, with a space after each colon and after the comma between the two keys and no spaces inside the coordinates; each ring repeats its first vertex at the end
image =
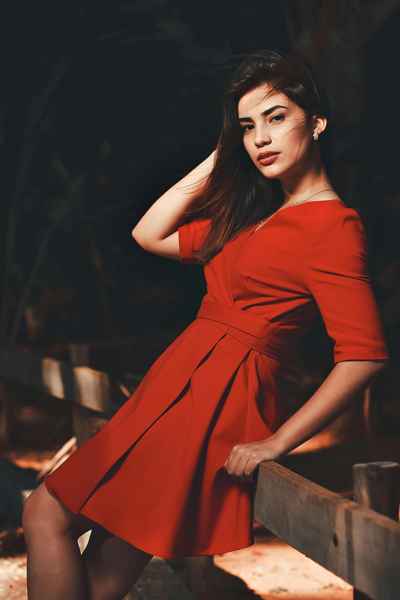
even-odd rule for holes
{"type": "MultiPolygon", "coordinates": [[[[354,502],[399,520],[400,464],[359,463],[353,466],[354,502]]],[[[354,588],[354,600],[370,600],[354,588]]]]}

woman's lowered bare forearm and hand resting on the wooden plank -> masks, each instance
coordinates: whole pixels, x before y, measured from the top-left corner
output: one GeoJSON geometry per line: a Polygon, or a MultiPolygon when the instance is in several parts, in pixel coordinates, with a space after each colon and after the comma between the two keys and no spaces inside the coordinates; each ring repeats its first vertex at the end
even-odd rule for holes
{"type": "Polygon", "coordinates": [[[276,433],[261,442],[234,446],[224,469],[237,481],[252,482],[259,463],[283,458],[327,427],[360,397],[388,362],[338,362],[315,394],[276,433]]]}

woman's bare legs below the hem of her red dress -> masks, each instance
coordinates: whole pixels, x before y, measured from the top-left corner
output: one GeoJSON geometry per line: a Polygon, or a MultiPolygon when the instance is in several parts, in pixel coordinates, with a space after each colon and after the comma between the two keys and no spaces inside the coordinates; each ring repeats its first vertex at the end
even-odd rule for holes
{"type": "Polygon", "coordinates": [[[127,589],[151,558],[87,517],[74,515],[44,484],[25,502],[23,528],[29,600],[120,600],[127,592],[119,595],[119,590],[127,589]],[[77,539],[89,529],[93,539],[83,559],[77,539]]]}

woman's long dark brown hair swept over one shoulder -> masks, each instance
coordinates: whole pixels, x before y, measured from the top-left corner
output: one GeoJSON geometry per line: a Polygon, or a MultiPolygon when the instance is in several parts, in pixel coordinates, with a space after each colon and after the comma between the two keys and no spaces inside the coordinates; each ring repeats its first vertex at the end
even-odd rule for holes
{"type": "Polygon", "coordinates": [[[285,94],[307,116],[326,116],[328,123],[320,136],[320,150],[329,170],[334,146],[332,114],[320,81],[301,62],[282,53],[247,55],[222,97],[222,126],[214,166],[190,211],[191,217],[207,215],[211,220],[201,249],[193,252],[199,263],[209,262],[230,239],[272,215],[284,202],[278,179],[267,179],[252,163],[237,119],[240,98],[264,84],[285,94]]]}

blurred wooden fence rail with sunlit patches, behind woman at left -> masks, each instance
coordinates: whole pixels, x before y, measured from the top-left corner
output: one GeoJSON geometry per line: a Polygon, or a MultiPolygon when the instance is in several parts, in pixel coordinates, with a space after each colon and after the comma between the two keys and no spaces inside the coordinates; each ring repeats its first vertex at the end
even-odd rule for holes
{"type": "Polygon", "coordinates": [[[104,412],[109,407],[109,376],[89,367],[0,346],[0,377],[92,410],[104,412]]]}

